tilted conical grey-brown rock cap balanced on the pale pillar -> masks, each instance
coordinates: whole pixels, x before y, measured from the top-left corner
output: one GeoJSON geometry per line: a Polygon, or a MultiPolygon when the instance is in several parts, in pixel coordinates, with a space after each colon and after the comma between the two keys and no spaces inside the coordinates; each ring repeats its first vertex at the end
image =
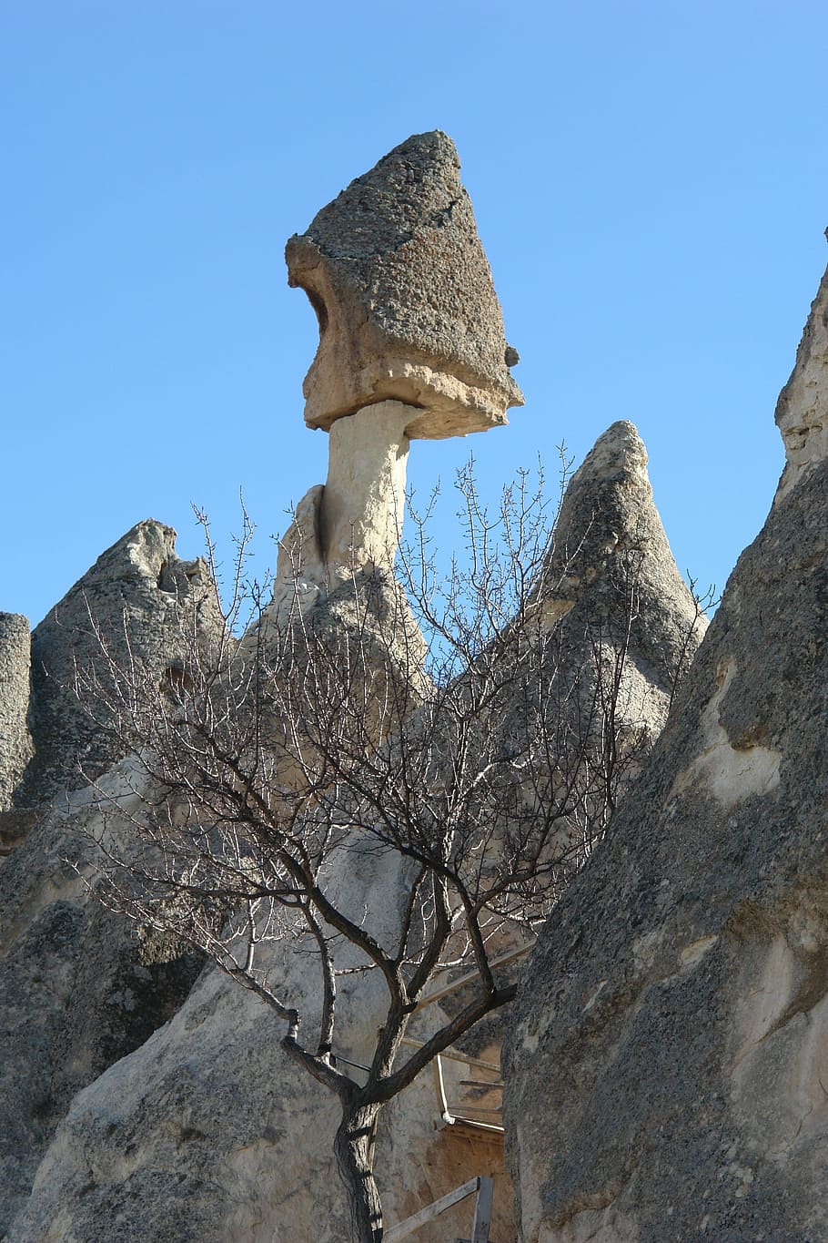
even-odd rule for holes
{"type": "Polygon", "coordinates": [[[422,411],[408,436],[439,439],[485,431],[523,404],[459,167],[446,134],[415,134],[289,240],[288,282],[319,318],[309,426],[392,399],[422,411]]]}

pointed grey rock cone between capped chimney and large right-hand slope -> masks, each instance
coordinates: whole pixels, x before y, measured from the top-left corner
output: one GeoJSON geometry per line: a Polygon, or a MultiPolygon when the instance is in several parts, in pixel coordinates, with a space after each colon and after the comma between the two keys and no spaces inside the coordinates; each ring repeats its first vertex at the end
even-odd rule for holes
{"type": "MultiPolygon", "coordinates": [[[[505,660],[515,660],[514,676],[494,704],[480,755],[497,761],[500,747],[530,755],[542,747],[536,740],[544,721],[555,762],[518,766],[520,794],[509,804],[519,822],[531,820],[549,783],[549,804],[564,788],[577,807],[549,838],[545,858],[555,866],[542,911],[583,864],[647,762],[708,626],[673,559],[647,450],[632,423],[612,424],[570,480],[531,600],[520,644],[504,649],[505,660]],[[538,653],[529,655],[526,644],[538,653]]],[[[500,933],[500,947],[524,938],[525,930],[516,938],[500,933]]],[[[463,1048],[483,1055],[499,1048],[508,1019],[508,1011],[489,1016],[463,1048]]]]}

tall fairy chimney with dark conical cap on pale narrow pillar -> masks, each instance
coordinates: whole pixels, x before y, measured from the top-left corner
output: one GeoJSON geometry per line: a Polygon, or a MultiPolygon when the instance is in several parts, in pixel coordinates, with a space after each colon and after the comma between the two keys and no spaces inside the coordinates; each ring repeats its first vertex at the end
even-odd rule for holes
{"type": "Polygon", "coordinates": [[[459,167],[446,134],[413,134],[288,241],[288,282],[319,321],[305,423],[330,447],[281,542],[279,614],[392,566],[411,440],[485,431],[523,404],[459,167]]]}

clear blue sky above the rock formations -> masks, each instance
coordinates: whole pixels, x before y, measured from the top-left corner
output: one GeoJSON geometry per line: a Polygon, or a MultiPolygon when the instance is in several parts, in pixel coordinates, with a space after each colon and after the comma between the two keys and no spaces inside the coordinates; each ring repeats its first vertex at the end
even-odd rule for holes
{"type": "MultiPolygon", "coordinates": [[[[324,481],[287,237],[441,128],[521,354],[493,492],[632,419],[682,569],[724,585],[828,260],[828,5],[0,0],[0,609],[40,620],[134,522],[201,551],[324,481]]],[[[451,505],[448,506],[451,513],[451,505]]],[[[448,544],[453,526],[438,528],[448,544]]]]}

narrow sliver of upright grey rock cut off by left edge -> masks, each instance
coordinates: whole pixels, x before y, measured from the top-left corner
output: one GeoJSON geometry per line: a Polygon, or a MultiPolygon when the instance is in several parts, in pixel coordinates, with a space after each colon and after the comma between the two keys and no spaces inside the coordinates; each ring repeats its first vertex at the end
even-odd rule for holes
{"type": "Polygon", "coordinates": [[[0,613],[0,812],[14,805],[34,751],[29,732],[30,649],[29,620],[17,613],[0,613]]]}

